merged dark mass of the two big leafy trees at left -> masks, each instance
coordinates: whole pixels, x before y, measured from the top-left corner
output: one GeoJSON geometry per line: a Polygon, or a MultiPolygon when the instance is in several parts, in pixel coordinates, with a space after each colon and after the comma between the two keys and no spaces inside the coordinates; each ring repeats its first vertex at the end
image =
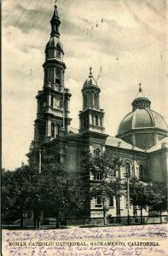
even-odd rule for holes
{"type": "MultiPolygon", "coordinates": [[[[3,215],[14,212],[20,216],[23,225],[23,212],[38,212],[49,209],[55,212],[57,226],[60,214],[75,212],[84,207],[84,194],[75,179],[70,178],[63,165],[55,161],[55,156],[43,158],[42,172],[22,165],[14,172],[2,173],[3,215]]],[[[53,216],[51,216],[53,217],[53,216]]]]}

